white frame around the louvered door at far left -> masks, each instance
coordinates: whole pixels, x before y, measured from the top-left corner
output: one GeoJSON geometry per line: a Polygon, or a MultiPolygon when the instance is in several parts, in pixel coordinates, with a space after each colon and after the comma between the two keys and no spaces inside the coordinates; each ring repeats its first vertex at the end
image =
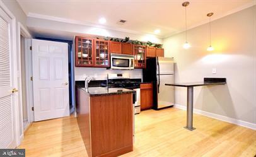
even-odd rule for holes
{"type": "MultiPolygon", "coordinates": [[[[11,42],[11,57],[10,57],[10,61],[11,61],[11,75],[12,75],[12,79],[11,82],[13,83],[13,87],[18,88],[18,78],[17,78],[17,44],[16,44],[16,38],[17,38],[17,34],[16,34],[16,18],[13,15],[13,13],[11,13],[11,11],[9,11],[9,9],[5,6],[5,4],[0,1],[0,8],[3,9],[3,11],[6,13],[6,15],[9,16],[9,18],[11,19],[11,23],[10,23],[10,29],[11,29],[11,38],[10,38],[10,42],[11,42]]],[[[19,117],[19,103],[18,103],[18,94],[15,93],[13,94],[13,127],[14,127],[14,141],[16,146],[13,147],[17,147],[20,145],[20,117],[19,117]]]]}

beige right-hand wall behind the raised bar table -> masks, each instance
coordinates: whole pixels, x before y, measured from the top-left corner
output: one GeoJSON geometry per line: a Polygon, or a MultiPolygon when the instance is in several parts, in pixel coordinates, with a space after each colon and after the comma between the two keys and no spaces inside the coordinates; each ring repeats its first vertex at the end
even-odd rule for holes
{"type": "MultiPolygon", "coordinates": [[[[199,110],[256,123],[256,6],[212,21],[213,52],[209,45],[209,25],[187,32],[192,47],[182,48],[185,33],[165,38],[166,57],[174,57],[175,82],[202,81],[204,77],[224,77],[224,86],[194,88],[194,106],[199,110]],[[212,74],[212,68],[217,69],[212,74]]],[[[186,105],[186,88],[175,88],[175,102],[186,105]]]]}

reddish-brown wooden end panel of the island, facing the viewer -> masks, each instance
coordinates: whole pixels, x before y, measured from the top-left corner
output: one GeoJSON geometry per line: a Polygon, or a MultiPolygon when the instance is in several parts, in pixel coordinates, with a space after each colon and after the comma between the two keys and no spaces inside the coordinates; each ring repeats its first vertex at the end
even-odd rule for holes
{"type": "Polygon", "coordinates": [[[91,97],[93,156],[119,156],[132,149],[132,94],[91,97]]]}

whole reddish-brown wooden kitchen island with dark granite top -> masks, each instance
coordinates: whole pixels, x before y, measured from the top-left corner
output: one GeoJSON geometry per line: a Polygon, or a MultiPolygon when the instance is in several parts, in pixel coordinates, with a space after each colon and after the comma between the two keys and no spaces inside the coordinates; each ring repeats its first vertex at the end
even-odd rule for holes
{"type": "Polygon", "coordinates": [[[119,156],[133,150],[133,92],[76,88],[78,125],[88,156],[119,156]]]}

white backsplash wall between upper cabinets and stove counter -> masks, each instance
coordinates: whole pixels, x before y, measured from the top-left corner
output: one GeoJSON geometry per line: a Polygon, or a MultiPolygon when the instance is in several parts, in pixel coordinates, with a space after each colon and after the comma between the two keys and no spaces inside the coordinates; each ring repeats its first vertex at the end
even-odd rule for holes
{"type": "Polygon", "coordinates": [[[142,69],[134,70],[111,70],[100,67],[75,67],[74,74],[76,81],[84,80],[85,76],[93,76],[98,80],[107,79],[107,74],[130,74],[131,78],[143,78],[142,69]]]}

